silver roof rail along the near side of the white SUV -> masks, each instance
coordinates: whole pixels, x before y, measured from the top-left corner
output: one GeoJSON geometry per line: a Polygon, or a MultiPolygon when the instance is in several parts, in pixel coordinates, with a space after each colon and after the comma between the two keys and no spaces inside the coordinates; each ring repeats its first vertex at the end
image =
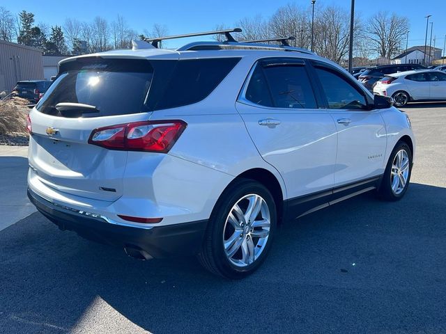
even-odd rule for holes
{"type": "Polygon", "coordinates": [[[261,44],[256,42],[192,42],[176,51],[197,51],[197,50],[221,50],[221,49],[270,49],[277,51],[295,51],[302,54],[314,54],[314,52],[300,47],[289,47],[285,45],[261,44]]]}

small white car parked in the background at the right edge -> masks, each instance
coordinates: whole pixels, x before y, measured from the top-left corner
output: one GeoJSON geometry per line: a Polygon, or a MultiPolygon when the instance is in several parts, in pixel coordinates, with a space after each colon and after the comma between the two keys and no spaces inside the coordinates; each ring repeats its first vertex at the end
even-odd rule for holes
{"type": "Polygon", "coordinates": [[[374,94],[393,97],[395,106],[415,101],[445,101],[446,73],[415,70],[388,74],[376,83],[374,94]]]}

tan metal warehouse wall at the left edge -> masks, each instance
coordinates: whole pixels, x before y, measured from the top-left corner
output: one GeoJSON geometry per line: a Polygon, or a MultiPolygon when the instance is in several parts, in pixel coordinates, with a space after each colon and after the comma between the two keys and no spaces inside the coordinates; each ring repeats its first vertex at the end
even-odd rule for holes
{"type": "Polygon", "coordinates": [[[0,92],[10,92],[19,80],[43,79],[42,51],[0,40],[0,92]]]}

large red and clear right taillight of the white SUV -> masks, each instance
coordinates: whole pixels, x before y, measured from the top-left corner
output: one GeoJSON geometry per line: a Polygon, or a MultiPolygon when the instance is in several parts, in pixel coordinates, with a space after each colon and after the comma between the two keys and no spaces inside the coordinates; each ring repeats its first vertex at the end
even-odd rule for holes
{"type": "Polygon", "coordinates": [[[183,120],[155,120],[100,127],[89,143],[109,150],[167,153],[186,126],[183,120]]]}

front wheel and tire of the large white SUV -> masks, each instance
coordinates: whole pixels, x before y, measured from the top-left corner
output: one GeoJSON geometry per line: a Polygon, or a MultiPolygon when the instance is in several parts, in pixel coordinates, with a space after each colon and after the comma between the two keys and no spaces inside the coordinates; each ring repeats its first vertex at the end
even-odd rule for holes
{"type": "Polygon", "coordinates": [[[383,200],[401,200],[408,189],[411,174],[412,152],[410,152],[410,148],[405,142],[399,141],[392,150],[392,154],[390,154],[378,188],[378,196],[383,200]],[[401,158],[402,164],[400,162],[401,158]],[[402,182],[403,180],[405,182],[402,182]]]}

